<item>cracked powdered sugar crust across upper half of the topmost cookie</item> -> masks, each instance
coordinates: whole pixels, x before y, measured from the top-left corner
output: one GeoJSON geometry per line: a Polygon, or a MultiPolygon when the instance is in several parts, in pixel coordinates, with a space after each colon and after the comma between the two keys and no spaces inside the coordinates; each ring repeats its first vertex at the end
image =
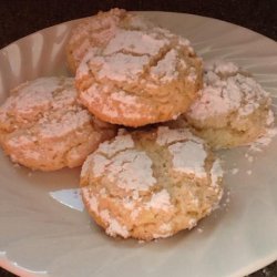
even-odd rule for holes
{"type": "MultiPolygon", "coordinates": [[[[145,30],[119,29],[103,50],[92,49],[86,53],[78,69],[76,79],[88,74],[89,68],[83,64],[89,62],[100,68],[98,71],[100,79],[105,76],[114,81],[126,81],[134,76],[138,78],[144,73],[146,65],[152,65],[151,60],[165,50],[164,58],[156,61],[150,74],[154,79],[161,79],[162,82],[176,80],[179,75],[177,70],[179,45],[173,42],[172,35],[163,35],[161,30],[155,28],[145,32],[145,30]]],[[[187,66],[186,61],[181,60],[183,66],[187,66]]]]}

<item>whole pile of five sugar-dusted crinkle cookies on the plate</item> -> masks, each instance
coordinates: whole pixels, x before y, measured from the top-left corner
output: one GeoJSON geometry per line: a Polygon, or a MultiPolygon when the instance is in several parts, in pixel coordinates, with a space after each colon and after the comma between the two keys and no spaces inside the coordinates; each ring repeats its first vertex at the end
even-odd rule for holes
{"type": "Polygon", "coordinates": [[[125,10],[83,20],[66,47],[73,78],[40,78],[0,107],[16,163],[82,165],[84,204],[106,234],[143,240],[191,229],[217,207],[213,150],[274,124],[270,96],[232,62],[203,66],[189,41],[125,10]]]}

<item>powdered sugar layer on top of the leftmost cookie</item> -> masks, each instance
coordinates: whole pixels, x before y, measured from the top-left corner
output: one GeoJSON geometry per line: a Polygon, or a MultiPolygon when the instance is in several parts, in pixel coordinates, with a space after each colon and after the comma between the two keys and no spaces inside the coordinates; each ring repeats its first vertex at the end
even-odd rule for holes
{"type": "Polygon", "coordinates": [[[35,137],[62,136],[89,123],[92,116],[76,102],[73,81],[72,78],[39,78],[14,89],[0,107],[0,121],[12,117],[13,125],[19,124],[21,129],[25,125],[28,131],[10,143],[19,146],[35,137]]]}

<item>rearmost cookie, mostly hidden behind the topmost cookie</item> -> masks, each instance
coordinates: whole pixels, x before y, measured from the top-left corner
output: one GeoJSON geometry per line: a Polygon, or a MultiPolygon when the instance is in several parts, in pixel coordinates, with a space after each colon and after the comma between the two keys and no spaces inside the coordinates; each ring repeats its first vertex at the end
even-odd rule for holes
{"type": "Polygon", "coordinates": [[[135,30],[151,27],[148,20],[117,8],[82,20],[72,29],[66,45],[70,70],[75,73],[88,50],[104,47],[115,35],[117,28],[135,30]]]}

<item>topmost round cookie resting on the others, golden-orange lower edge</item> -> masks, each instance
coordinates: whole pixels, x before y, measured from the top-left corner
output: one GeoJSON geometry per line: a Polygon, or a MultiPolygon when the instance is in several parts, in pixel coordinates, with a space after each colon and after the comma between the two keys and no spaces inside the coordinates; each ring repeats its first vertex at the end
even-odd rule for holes
{"type": "Polygon", "coordinates": [[[202,88],[202,61],[189,42],[161,28],[117,29],[76,71],[83,105],[99,119],[142,126],[176,119],[202,88]]]}

